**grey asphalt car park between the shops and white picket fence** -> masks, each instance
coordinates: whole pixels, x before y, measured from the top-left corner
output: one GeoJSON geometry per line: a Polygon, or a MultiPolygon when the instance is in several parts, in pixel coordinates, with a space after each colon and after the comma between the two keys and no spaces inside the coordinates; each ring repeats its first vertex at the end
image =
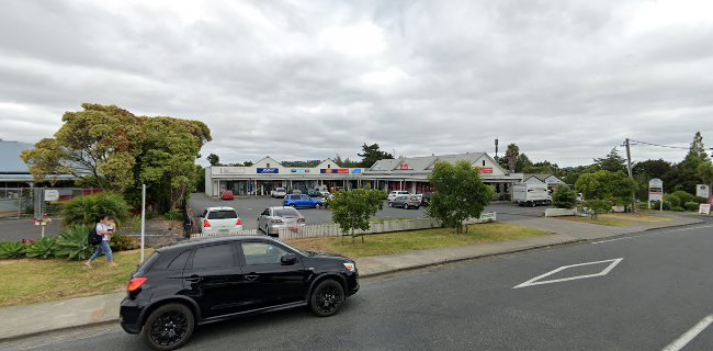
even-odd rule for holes
{"type": "MultiPolygon", "coordinates": [[[[272,199],[267,196],[258,197],[238,197],[235,200],[215,200],[205,194],[195,193],[191,195],[189,206],[193,210],[195,215],[203,212],[205,207],[214,206],[228,206],[235,208],[240,218],[242,218],[242,227],[245,229],[256,229],[259,214],[270,206],[282,206],[282,199],[272,199]]],[[[486,208],[487,212],[497,212],[498,220],[509,222],[524,219],[528,217],[540,217],[543,215],[545,207],[519,207],[512,203],[494,203],[486,208]]],[[[331,224],[331,211],[305,208],[298,210],[305,216],[308,225],[310,224],[331,224]]],[[[418,210],[404,210],[393,208],[386,206],[376,213],[376,217],[381,219],[397,219],[397,218],[421,218],[425,217],[426,208],[418,210]]]]}

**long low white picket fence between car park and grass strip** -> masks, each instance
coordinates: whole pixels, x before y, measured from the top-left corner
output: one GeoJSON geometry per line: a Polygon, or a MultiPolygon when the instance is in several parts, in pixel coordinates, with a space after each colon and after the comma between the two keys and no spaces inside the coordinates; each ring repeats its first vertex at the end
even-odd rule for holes
{"type": "MultiPolygon", "coordinates": [[[[480,218],[467,219],[464,224],[479,224],[495,222],[495,213],[483,214],[480,218]]],[[[383,220],[383,222],[372,222],[369,230],[354,230],[355,235],[361,234],[382,234],[382,233],[395,233],[395,231],[406,231],[406,230],[418,230],[418,229],[430,229],[440,227],[440,223],[434,218],[415,218],[415,219],[397,219],[397,220],[383,220]]],[[[298,228],[281,228],[278,231],[279,239],[292,240],[292,239],[305,239],[305,238],[321,238],[321,237],[339,237],[342,236],[339,226],[336,224],[318,224],[318,225],[308,225],[302,226],[298,228]]]]}

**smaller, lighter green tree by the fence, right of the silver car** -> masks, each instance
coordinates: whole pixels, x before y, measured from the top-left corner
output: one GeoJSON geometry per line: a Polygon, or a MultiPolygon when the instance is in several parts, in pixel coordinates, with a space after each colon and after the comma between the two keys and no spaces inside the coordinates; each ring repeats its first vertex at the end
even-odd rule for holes
{"type": "MultiPolygon", "coordinates": [[[[331,219],[342,234],[351,235],[353,242],[354,230],[369,230],[371,218],[383,208],[386,196],[386,192],[381,190],[338,191],[329,200],[329,206],[332,208],[331,219]]],[[[361,237],[364,242],[364,235],[362,234],[361,237]]]]}

